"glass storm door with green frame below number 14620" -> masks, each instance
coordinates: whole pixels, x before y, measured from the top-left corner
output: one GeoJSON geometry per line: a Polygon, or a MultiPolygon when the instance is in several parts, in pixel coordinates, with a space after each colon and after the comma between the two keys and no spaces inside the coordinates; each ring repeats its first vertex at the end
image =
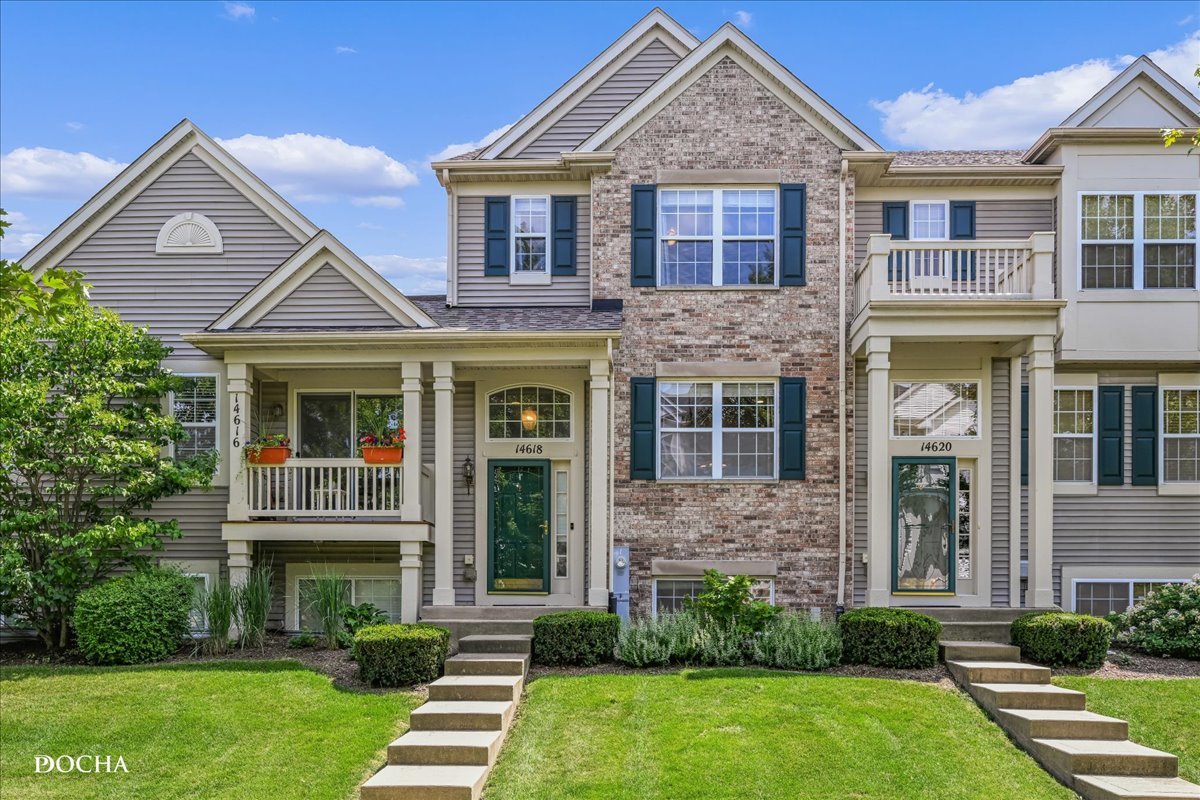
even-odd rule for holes
{"type": "Polygon", "coordinates": [[[958,530],[955,461],[892,462],[892,590],[954,594],[958,530]]]}

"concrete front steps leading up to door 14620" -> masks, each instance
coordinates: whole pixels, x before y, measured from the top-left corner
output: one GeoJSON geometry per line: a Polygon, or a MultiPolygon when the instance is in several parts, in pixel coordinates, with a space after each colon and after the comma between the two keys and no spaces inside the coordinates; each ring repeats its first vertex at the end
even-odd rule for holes
{"type": "Polygon", "coordinates": [[[1051,685],[1050,670],[1022,663],[1013,645],[960,638],[941,649],[959,685],[1085,800],[1200,800],[1175,756],[1129,741],[1124,720],[1092,714],[1082,692],[1051,685]]]}

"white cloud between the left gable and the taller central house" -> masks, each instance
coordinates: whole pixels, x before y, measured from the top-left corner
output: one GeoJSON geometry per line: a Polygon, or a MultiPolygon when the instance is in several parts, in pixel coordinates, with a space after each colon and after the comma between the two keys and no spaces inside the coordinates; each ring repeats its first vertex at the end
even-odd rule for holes
{"type": "Polygon", "coordinates": [[[383,150],[312,133],[247,133],[221,144],[259,178],[298,200],[348,198],[358,205],[396,207],[397,193],[416,175],[383,150]]]}

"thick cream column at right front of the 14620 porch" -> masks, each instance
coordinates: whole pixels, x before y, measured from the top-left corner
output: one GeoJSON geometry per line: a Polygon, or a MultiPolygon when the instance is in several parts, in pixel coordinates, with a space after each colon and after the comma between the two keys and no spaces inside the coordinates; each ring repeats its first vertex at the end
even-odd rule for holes
{"type": "Polygon", "coordinates": [[[1054,337],[1030,343],[1030,576],[1025,604],[1054,606],[1054,337]]]}

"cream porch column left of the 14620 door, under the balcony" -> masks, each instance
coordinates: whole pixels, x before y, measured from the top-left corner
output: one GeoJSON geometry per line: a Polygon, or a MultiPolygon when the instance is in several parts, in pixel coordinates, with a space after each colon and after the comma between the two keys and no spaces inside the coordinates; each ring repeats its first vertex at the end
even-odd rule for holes
{"type": "Polygon", "coordinates": [[[887,606],[892,601],[892,469],[888,458],[888,415],[892,397],[892,339],[866,339],[866,602],[887,606]]]}

